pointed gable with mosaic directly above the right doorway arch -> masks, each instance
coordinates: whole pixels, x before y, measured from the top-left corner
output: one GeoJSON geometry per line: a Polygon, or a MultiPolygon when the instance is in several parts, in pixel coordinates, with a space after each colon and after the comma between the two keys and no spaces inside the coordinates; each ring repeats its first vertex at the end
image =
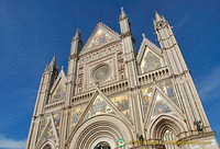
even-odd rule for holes
{"type": "Polygon", "coordinates": [[[151,96],[147,113],[145,115],[144,126],[148,126],[153,119],[163,114],[173,114],[184,118],[184,114],[175,105],[172,100],[157,85],[154,87],[153,95],[151,96]]]}

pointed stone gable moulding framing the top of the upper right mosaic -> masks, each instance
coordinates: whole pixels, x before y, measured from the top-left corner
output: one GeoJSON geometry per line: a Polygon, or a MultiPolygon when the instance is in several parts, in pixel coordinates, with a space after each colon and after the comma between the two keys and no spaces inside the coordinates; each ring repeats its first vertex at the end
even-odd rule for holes
{"type": "Polygon", "coordinates": [[[138,64],[141,64],[143,56],[145,54],[145,49],[150,49],[157,57],[162,57],[161,49],[156,45],[154,45],[151,41],[148,41],[145,36],[143,36],[143,41],[142,41],[142,44],[140,46],[139,54],[136,57],[138,64]]]}

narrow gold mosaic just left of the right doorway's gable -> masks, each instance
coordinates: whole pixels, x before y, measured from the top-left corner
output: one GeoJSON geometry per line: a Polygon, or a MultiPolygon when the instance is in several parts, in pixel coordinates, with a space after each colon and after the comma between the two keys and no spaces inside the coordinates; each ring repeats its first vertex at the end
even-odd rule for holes
{"type": "Polygon", "coordinates": [[[142,90],[144,114],[146,114],[147,112],[147,106],[148,106],[148,102],[150,102],[150,98],[152,96],[152,93],[153,93],[153,88],[145,88],[142,90]]]}

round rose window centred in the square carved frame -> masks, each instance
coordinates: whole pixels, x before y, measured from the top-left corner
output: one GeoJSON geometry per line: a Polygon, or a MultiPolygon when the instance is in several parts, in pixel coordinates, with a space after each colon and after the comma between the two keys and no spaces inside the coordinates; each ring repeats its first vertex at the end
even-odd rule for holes
{"type": "Polygon", "coordinates": [[[94,71],[94,79],[96,81],[102,81],[108,78],[109,73],[110,73],[109,67],[107,65],[101,66],[94,71]]]}

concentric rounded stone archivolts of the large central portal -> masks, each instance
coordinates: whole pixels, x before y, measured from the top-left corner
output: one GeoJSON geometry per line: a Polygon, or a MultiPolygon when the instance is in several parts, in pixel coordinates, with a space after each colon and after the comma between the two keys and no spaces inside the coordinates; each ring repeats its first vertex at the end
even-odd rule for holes
{"type": "Polygon", "coordinates": [[[127,142],[133,140],[134,134],[128,125],[113,115],[98,115],[84,123],[67,144],[69,148],[89,149],[101,136],[117,142],[123,138],[127,142]]]}

